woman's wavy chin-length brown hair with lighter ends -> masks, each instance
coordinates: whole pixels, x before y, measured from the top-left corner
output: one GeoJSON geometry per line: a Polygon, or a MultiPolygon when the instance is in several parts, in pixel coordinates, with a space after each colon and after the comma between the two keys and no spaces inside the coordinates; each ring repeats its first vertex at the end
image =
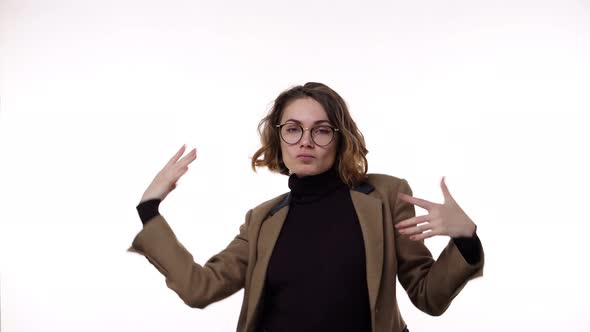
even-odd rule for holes
{"type": "Polygon", "coordinates": [[[283,163],[279,132],[275,126],[279,124],[285,107],[300,98],[313,98],[320,103],[330,122],[339,129],[334,166],[342,181],[349,187],[363,182],[368,169],[365,138],[352,120],[344,99],[327,85],[315,82],[292,87],[275,99],[268,114],[258,124],[262,147],[252,156],[252,169],[256,171],[256,167],[266,166],[273,172],[289,174],[283,163]]]}

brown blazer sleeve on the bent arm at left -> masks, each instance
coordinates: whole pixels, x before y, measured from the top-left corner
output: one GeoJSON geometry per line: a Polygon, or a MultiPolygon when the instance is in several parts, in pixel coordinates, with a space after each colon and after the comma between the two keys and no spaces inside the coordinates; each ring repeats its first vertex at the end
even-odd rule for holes
{"type": "Polygon", "coordinates": [[[204,265],[178,241],[162,215],[150,220],[133,240],[129,252],[141,254],[166,277],[166,285],[193,308],[205,308],[244,287],[248,265],[248,222],[220,253],[204,265]]]}

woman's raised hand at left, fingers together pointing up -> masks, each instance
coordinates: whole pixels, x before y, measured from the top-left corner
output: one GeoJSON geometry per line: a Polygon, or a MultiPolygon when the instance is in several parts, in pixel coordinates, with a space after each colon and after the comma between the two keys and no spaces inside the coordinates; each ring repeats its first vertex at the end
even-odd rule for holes
{"type": "Polygon", "coordinates": [[[154,198],[164,200],[176,188],[176,182],[188,171],[188,165],[197,159],[197,149],[192,149],[186,156],[178,160],[184,153],[185,148],[186,145],[183,145],[172,156],[166,166],[158,172],[152,183],[150,183],[143,193],[140,203],[154,198]]]}

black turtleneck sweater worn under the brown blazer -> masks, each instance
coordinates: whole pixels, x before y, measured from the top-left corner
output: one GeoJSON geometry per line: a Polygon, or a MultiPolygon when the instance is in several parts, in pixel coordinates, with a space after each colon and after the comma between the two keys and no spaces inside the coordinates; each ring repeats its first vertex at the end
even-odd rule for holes
{"type": "Polygon", "coordinates": [[[335,170],[289,177],[291,202],[266,273],[260,330],[371,331],[361,227],[335,170]]]}

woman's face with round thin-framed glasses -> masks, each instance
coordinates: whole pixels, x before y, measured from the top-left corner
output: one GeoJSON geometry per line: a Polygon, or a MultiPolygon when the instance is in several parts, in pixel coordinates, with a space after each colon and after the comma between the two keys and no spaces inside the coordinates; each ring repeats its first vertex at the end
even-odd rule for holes
{"type": "MultiPolygon", "coordinates": [[[[311,138],[311,129],[318,128],[318,137],[323,133],[321,126],[334,126],[320,103],[313,98],[300,98],[285,107],[281,123],[300,124],[304,130],[303,137],[295,144],[281,140],[283,162],[291,173],[299,177],[323,173],[334,165],[336,160],[337,135],[326,146],[317,145],[311,138]]],[[[325,128],[325,127],[324,127],[325,128]]],[[[317,140],[317,139],[316,139],[317,140]]],[[[319,140],[318,140],[319,141],[319,140]]]]}

